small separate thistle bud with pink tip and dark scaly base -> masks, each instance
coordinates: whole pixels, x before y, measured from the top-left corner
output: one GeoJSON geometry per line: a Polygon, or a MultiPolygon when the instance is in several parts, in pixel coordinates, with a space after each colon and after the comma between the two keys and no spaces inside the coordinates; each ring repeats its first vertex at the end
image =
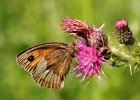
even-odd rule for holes
{"type": "Polygon", "coordinates": [[[125,45],[133,45],[135,39],[133,37],[133,33],[128,27],[128,22],[125,19],[117,20],[115,23],[115,29],[117,32],[118,41],[121,44],[125,45]]]}

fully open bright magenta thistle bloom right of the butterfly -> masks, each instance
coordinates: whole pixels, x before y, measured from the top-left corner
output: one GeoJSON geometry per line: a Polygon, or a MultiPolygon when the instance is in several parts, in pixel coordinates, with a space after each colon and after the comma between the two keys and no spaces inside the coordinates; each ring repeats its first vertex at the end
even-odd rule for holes
{"type": "Polygon", "coordinates": [[[105,61],[101,52],[94,47],[88,47],[82,44],[81,41],[78,41],[77,50],[77,67],[75,68],[75,73],[78,76],[82,75],[82,80],[93,75],[99,76],[101,65],[105,61]]]}

